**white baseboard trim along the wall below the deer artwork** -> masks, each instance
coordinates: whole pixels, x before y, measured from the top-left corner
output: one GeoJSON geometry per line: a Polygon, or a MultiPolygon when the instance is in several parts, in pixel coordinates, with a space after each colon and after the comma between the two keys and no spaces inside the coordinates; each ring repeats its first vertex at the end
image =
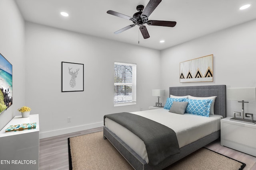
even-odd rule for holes
{"type": "Polygon", "coordinates": [[[89,125],[82,125],[82,126],[76,126],[76,127],[69,127],[69,128],[65,128],[65,129],[57,129],[54,131],[42,132],[42,133],[39,133],[39,139],[54,137],[54,136],[58,136],[58,135],[64,135],[64,134],[68,134],[68,133],[74,133],[74,132],[78,132],[78,131],[84,131],[84,130],[88,130],[88,129],[94,129],[94,128],[102,127],[102,126],[103,126],[103,121],[98,122],[98,123],[92,123],[89,125]]]}

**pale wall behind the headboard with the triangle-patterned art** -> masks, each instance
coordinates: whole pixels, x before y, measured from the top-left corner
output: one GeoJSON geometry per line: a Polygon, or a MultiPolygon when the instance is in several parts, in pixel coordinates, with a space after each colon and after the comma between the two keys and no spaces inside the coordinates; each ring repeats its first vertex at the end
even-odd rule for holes
{"type": "MultiPolygon", "coordinates": [[[[169,86],[203,86],[226,84],[228,87],[256,87],[256,20],[161,51],[161,84],[169,86]],[[214,81],[180,83],[180,62],[213,54],[214,81]]],[[[166,94],[167,95],[167,94],[166,94]]],[[[256,102],[245,104],[246,113],[254,113],[256,102]]],[[[242,104],[227,100],[227,116],[241,111],[242,104]]]]}

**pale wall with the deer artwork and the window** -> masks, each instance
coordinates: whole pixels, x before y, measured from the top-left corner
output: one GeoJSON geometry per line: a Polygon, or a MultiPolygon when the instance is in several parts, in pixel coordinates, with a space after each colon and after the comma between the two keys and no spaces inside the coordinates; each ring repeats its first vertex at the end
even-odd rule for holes
{"type": "Polygon", "coordinates": [[[155,104],[160,51],[26,22],[26,104],[40,138],[103,126],[105,114],[155,104]],[[84,92],[61,92],[61,62],[84,64],[84,92]],[[114,61],[137,64],[137,104],[113,106],[114,61]],[[71,117],[71,122],[67,122],[71,117]]]}

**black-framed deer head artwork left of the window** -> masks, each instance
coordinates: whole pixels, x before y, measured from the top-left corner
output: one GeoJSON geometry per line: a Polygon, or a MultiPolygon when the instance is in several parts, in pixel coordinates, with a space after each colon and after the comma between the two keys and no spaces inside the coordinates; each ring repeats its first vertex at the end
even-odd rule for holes
{"type": "Polygon", "coordinates": [[[84,64],[62,62],[62,92],[84,91],[84,64]]]}

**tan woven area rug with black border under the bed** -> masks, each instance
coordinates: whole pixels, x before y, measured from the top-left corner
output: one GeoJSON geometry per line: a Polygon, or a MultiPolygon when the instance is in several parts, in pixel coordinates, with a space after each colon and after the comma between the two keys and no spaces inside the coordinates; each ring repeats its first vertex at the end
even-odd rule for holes
{"type": "MultiPolygon", "coordinates": [[[[132,166],[106,139],[103,131],[71,137],[70,170],[133,170],[132,166]]],[[[242,170],[245,164],[202,148],[164,170],[242,170]]]]}

